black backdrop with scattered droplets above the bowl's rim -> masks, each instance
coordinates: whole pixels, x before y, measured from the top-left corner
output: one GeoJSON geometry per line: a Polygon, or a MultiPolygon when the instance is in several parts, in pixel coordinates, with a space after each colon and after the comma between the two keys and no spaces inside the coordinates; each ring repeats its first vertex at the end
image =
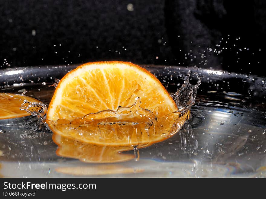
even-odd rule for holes
{"type": "Polygon", "coordinates": [[[0,65],[123,60],[266,76],[265,8],[264,0],[0,0],[0,65]]]}

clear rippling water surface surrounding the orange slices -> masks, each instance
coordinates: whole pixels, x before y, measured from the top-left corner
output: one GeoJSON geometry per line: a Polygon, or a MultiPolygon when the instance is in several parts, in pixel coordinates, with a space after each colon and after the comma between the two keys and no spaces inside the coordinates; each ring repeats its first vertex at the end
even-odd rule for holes
{"type": "MultiPolygon", "coordinates": [[[[182,71],[174,67],[163,71],[151,67],[150,70],[158,79],[166,80],[162,82],[173,94],[177,84],[182,83],[187,75],[187,69],[182,71]],[[173,80],[170,80],[171,75],[175,77],[173,80]]],[[[255,87],[252,89],[251,84],[248,87],[248,81],[244,82],[242,90],[236,89],[230,81],[239,79],[242,82],[243,78],[230,75],[231,80],[225,80],[222,79],[223,73],[220,76],[218,73],[204,74],[196,100],[190,102],[195,103],[191,107],[190,119],[182,129],[169,139],[145,148],[102,147],[99,150],[95,149],[99,146],[57,137],[54,140],[67,143],[58,148],[52,139],[53,134],[37,117],[0,120],[0,174],[6,177],[265,177],[265,100],[263,96],[262,100],[259,97],[264,94],[255,87]],[[204,81],[209,83],[204,84],[204,81]],[[70,154],[68,149],[75,154],[70,154]],[[84,150],[85,154],[82,153],[84,150]],[[96,155],[99,151],[107,155],[96,155]],[[103,159],[108,157],[110,159],[103,159]],[[119,161],[108,163],[115,158],[119,161]]],[[[36,79],[38,77],[41,78],[36,76],[36,79]]],[[[61,76],[54,78],[60,79],[61,76]]],[[[250,82],[261,81],[248,78],[251,78],[250,82]]],[[[46,81],[46,85],[42,85],[44,81],[3,87],[1,92],[16,93],[25,88],[28,91],[25,95],[39,99],[48,107],[54,91],[49,85],[54,82],[46,81]]]]}

